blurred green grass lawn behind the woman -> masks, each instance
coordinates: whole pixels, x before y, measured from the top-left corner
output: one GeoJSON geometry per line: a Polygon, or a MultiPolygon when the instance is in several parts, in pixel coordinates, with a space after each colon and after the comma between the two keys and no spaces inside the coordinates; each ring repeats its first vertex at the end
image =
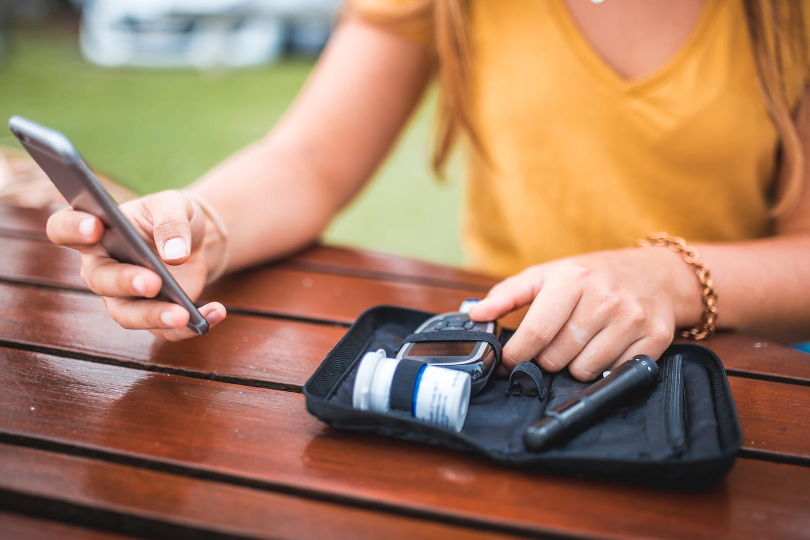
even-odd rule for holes
{"type": "MultiPolygon", "coordinates": [[[[92,167],[150,193],[190,184],[266,134],[312,67],[311,60],[286,59],[245,70],[108,69],[83,59],[75,24],[11,28],[0,56],[0,117],[20,114],[62,131],[92,167]]],[[[428,167],[434,102],[428,92],[326,242],[463,263],[458,159],[445,183],[428,167]]],[[[19,146],[6,129],[0,145],[19,146]]]]}

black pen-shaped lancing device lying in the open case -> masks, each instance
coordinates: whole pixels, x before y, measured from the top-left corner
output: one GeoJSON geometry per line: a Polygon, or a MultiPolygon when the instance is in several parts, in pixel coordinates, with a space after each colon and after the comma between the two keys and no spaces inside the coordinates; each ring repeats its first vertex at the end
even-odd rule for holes
{"type": "Polygon", "coordinates": [[[633,356],[601,381],[546,411],[523,435],[526,448],[538,452],[569,440],[622,402],[648,392],[655,381],[658,381],[655,360],[647,355],[633,356]]]}

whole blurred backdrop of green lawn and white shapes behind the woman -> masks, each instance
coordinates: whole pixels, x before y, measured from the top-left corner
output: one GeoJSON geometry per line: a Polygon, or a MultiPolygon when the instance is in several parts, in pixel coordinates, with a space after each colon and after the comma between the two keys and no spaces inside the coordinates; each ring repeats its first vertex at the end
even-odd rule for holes
{"type": "MultiPolygon", "coordinates": [[[[279,120],[341,3],[0,0],[0,117],[62,131],[92,168],[134,193],[180,188],[279,120]]],[[[428,91],[326,242],[463,263],[458,159],[445,182],[428,165],[434,104],[428,91]]],[[[6,171],[20,148],[0,130],[6,171]]],[[[2,159],[0,199],[14,190],[8,175],[3,185],[2,159]]]]}

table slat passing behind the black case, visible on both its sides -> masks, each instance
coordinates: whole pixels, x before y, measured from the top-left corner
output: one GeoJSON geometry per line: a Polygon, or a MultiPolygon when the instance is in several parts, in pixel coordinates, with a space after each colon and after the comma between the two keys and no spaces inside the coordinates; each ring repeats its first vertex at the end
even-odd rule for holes
{"type": "MultiPolygon", "coordinates": [[[[294,390],[304,385],[344,332],[334,326],[232,314],[216,333],[169,343],[146,331],[123,330],[96,296],[0,283],[0,298],[4,312],[0,341],[6,343],[90,355],[146,370],[181,370],[198,378],[294,390]]],[[[778,425],[772,422],[785,403],[810,406],[807,387],[733,376],[730,383],[750,438],[747,448],[810,456],[810,423],[804,415],[789,415],[790,422],[784,419],[778,425]]]]}

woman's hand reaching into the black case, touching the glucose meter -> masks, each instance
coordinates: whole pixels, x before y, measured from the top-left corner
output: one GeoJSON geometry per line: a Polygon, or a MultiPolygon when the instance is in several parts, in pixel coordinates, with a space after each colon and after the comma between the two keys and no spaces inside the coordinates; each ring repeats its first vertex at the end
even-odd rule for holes
{"type": "Polygon", "coordinates": [[[659,358],[676,324],[699,321],[701,290],[668,249],[603,251],[531,266],[493,287],[470,317],[492,321],[527,304],[504,347],[505,367],[535,359],[590,381],[633,355],[659,358]]]}

